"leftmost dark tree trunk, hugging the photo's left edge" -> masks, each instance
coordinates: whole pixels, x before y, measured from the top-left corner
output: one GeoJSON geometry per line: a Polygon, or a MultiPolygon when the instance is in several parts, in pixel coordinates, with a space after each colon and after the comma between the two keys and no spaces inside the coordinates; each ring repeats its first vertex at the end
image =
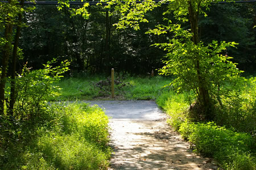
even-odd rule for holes
{"type": "MultiPolygon", "coordinates": [[[[8,1],[11,3],[11,0],[8,1]]],[[[7,18],[6,26],[5,26],[5,39],[7,42],[3,47],[3,55],[2,55],[2,73],[1,73],[1,80],[0,80],[0,114],[4,114],[5,109],[5,84],[6,84],[6,73],[8,67],[8,61],[11,52],[11,34],[13,30],[13,26],[11,25],[11,19],[7,18]]]]}

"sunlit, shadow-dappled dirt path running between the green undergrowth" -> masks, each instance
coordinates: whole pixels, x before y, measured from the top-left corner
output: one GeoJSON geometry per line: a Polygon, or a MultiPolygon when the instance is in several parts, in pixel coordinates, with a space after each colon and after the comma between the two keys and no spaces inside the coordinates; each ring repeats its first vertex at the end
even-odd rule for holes
{"type": "Polygon", "coordinates": [[[110,169],[217,169],[196,156],[154,101],[90,101],[105,108],[114,153],[110,169]]]}

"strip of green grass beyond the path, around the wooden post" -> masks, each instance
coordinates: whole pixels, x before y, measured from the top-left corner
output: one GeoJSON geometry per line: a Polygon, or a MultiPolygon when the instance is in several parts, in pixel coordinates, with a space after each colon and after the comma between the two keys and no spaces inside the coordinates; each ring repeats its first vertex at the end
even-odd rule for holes
{"type": "MultiPolygon", "coordinates": [[[[115,99],[156,99],[163,87],[171,82],[171,78],[160,76],[117,78],[121,79],[122,83],[115,85],[115,99]]],[[[107,77],[102,76],[64,78],[56,84],[61,88],[60,95],[51,100],[111,99],[110,86],[95,86],[97,82],[105,80],[107,77]]]]}

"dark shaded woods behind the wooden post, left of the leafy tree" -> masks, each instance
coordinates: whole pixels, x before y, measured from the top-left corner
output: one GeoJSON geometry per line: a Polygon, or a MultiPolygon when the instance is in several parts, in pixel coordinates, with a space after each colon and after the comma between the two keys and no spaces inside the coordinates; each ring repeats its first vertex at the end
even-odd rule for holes
{"type": "MultiPolygon", "coordinates": [[[[24,59],[20,63],[28,61],[28,67],[39,69],[41,63],[60,56],[63,60],[72,60],[71,75],[110,72],[111,68],[118,72],[147,74],[162,67],[163,51],[150,47],[150,44],[159,40],[164,42],[166,38],[144,35],[148,26],[140,31],[115,30],[112,24],[117,22],[120,14],[110,14],[109,11],[108,51],[105,49],[106,10],[101,6],[90,6],[88,11],[88,19],[80,15],[70,18],[67,8],[58,11],[55,6],[36,6],[24,19],[28,27],[22,31],[20,45],[24,59]]],[[[150,27],[159,20],[159,13],[160,9],[148,16],[150,27]]]]}

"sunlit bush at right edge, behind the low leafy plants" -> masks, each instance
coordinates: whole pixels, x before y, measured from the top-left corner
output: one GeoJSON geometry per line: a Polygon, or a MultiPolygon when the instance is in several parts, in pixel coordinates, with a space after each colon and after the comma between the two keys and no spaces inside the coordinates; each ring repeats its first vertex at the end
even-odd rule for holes
{"type": "Polygon", "coordinates": [[[218,125],[234,127],[237,131],[256,132],[256,81],[255,77],[245,82],[223,97],[223,105],[219,106],[214,119],[218,125]]]}

